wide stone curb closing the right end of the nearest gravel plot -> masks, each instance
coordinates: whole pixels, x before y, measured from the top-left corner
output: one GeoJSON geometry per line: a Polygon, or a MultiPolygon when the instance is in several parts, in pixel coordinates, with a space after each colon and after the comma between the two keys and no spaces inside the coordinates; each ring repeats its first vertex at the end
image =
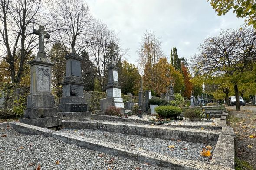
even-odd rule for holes
{"type": "Polygon", "coordinates": [[[215,146],[210,164],[218,164],[226,167],[235,167],[235,137],[220,135],[215,146]]]}

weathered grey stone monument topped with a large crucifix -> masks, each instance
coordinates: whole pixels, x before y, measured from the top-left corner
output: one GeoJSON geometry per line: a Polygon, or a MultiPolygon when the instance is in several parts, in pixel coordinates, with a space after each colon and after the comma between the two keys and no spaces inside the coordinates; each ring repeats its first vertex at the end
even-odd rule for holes
{"type": "Polygon", "coordinates": [[[28,62],[31,70],[30,95],[27,96],[27,109],[20,122],[43,128],[55,127],[62,125],[62,116],[57,116],[58,108],[51,94],[54,64],[46,58],[44,51],[44,38],[50,38],[50,35],[43,26],[33,29],[33,34],[39,35],[39,51],[36,58],[28,62]]]}

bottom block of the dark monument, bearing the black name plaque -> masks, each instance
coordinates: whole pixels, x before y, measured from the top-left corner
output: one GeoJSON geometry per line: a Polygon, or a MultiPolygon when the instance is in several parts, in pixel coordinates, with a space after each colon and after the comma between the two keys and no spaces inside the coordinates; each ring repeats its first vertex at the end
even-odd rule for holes
{"type": "Polygon", "coordinates": [[[59,112],[86,112],[87,104],[85,103],[64,103],[59,104],[59,112]]]}

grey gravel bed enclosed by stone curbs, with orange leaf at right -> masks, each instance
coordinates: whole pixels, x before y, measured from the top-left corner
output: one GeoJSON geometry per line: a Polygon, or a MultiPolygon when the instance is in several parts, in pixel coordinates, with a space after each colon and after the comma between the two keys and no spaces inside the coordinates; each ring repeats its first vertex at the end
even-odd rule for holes
{"type": "Polygon", "coordinates": [[[200,152],[203,150],[203,148],[208,146],[212,147],[211,153],[213,153],[215,148],[215,146],[211,144],[192,143],[180,140],[164,140],[159,138],[146,138],[139,135],[125,135],[101,130],[62,129],[61,131],[88,138],[95,138],[102,141],[127,145],[129,147],[141,148],[147,151],[166,154],[172,157],[197,160],[206,163],[210,163],[211,157],[203,157],[200,155],[200,152]]]}

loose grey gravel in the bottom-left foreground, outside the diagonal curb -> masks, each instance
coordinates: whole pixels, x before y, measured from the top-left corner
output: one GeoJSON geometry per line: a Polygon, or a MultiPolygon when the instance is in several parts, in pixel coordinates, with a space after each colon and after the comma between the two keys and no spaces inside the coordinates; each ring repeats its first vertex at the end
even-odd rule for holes
{"type": "Polygon", "coordinates": [[[38,165],[41,170],[167,170],[55,138],[0,128],[0,170],[36,170],[38,165]]]}

